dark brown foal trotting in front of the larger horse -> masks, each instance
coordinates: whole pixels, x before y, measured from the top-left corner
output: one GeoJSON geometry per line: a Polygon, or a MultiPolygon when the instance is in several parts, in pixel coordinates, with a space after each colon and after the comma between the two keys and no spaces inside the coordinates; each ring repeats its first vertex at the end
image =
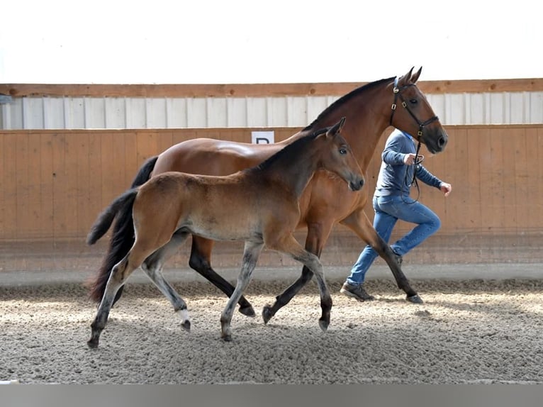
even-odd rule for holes
{"type": "Polygon", "coordinates": [[[323,266],[317,256],[296,241],[293,232],[300,218],[300,196],[315,172],[332,172],[327,176],[337,179],[345,190],[358,191],[364,185],[362,169],[340,135],[344,123],[342,118],[332,128],[298,138],[256,167],[224,177],[166,172],[113,201],[94,223],[87,242],[94,244],[101,238],[127,204],[133,208],[136,238],[128,255],[112,269],[91,324],[89,347],[98,346],[118,289],[140,266],[179,311],[181,326],[190,328],[186,303],[164,280],[162,267],[191,234],[213,240],[245,241],[237,285],[220,316],[224,340],[231,340],[235,304],[249,284],[264,245],[298,260],[315,274],[322,308],[319,325],[326,330],[332,298],[323,266]]]}

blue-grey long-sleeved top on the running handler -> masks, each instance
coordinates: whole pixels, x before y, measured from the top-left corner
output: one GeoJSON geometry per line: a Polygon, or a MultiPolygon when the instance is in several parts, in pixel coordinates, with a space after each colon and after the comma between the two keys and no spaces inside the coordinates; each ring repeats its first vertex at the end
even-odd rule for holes
{"type": "Polygon", "coordinates": [[[408,196],[413,181],[413,171],[420,181],[435,186],[437,189],[440,188],[442,181],[422,165],[405,165],[403,157],[415,152],[415,141],[408,133],[396,129],[388,136],[381,154],[381,169],[379,169],[375,196],[408,196]]]}

